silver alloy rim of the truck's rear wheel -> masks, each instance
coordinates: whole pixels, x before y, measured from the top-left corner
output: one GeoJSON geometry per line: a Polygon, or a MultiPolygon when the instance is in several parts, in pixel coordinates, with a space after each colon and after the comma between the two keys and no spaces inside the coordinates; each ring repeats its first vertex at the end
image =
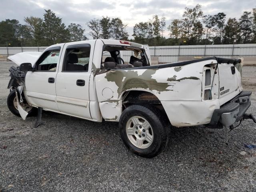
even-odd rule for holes
{"type": "Polygon", "coordinates": [[[126,134],[130,142],[141,149],[148,148],[154,139],[149,122],[141,116],[132,116],[126,124],[126,134]]]}

